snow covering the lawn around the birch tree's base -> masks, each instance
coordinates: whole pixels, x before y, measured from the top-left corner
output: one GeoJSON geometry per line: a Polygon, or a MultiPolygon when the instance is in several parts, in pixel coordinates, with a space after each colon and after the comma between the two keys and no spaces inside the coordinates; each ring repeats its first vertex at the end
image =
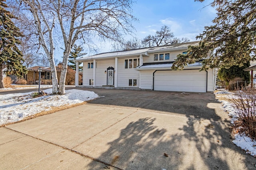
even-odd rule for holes
{"type": "MultiPolygon", "coordinates": [[[[50,94],[52,88],[44,90],[50,94]]],[[[1,95],[0,125],[22,120],[23,118],[49,111],[52,107],[68,106],[98,98],[94,92],[86,90],[66,90],[65,95],[48,95],[33,98],[33,92],[1,95]]]]}

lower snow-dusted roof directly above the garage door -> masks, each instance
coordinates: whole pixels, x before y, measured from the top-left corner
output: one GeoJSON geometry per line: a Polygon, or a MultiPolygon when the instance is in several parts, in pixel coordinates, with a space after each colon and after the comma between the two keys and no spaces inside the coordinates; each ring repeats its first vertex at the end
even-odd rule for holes
{"type": "MultiPolygon", "coordinates": [[[[142,66],[138,66],[135,70],[171,70],[173,62],[163,62],[163,63],[144,63],[142,66]]],[[[202,63],[196,62],[193,64],[188,64],[188,66],[184,67],[184,70],[191,69],[191,68],[201,68],[202,63]]]]}

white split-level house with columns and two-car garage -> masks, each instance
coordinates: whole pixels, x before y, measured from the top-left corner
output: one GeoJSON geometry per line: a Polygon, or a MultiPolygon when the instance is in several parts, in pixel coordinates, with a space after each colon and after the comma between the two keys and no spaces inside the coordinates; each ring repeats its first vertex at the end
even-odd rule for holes
{"type": "Polygon", "coordinates": [[[86,88],[213,92],[215,69],[199,71],[200,62],[184,70],[171,69],[177,55],[198,42],[101,53],[76,59],[76,68],[78,62],[83,63],[82,87],[86,88]]]}

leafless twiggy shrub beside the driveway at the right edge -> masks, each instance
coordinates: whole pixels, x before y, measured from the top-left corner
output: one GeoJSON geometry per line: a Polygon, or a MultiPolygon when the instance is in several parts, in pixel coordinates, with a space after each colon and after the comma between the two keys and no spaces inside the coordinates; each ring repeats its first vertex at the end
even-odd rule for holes
{"type": "Polygon", "coordinates": [[[230,103],[236,108],[238,120],[236,126],[242,126],[241,132],[256,140],[256,89],[247,88],[235,92],[230,103]]]}

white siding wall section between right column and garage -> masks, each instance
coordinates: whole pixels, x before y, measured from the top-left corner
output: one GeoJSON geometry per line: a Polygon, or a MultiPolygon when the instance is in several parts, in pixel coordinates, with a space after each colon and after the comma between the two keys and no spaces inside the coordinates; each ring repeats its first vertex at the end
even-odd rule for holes
{"type": "Polygon", "coordinates": [[[136,87],[139,87],[140,72],[138,70],[134,70],[134,68],[124,68],[124,60],[125,59],[118,59],[118,87],[132,87],[129,86],[129,79],[137,79],[136,87]]]}

